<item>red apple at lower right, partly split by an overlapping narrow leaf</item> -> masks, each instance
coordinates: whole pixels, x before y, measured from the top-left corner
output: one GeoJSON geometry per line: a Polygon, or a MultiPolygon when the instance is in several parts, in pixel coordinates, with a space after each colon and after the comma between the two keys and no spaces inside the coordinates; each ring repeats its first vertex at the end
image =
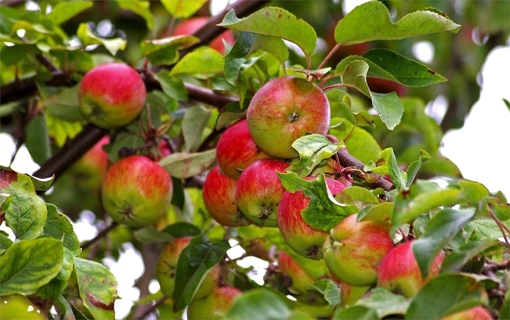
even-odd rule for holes
{"type": "Polygon", "coordinates": [[[414,297],[423,285],[439,274],[445,253],[441,251],[430,266],[428,276],[423,279],[411,244],[408,241],[399,244],[382,258],[377,273],[377,286],[403,295],[414,297]]]}

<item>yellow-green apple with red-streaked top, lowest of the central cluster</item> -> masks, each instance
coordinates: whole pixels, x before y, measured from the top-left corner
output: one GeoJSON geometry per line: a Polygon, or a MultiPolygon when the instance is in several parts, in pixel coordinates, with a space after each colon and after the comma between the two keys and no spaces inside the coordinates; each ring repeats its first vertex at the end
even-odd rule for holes
{"type": "Polygon", "coordinates": [[[377,281],[377,265],[392,248],[387,221],[356,222],[350,215],[333,229],[324,242],[327,268],[342,282],[369,286],[377,281]]]}

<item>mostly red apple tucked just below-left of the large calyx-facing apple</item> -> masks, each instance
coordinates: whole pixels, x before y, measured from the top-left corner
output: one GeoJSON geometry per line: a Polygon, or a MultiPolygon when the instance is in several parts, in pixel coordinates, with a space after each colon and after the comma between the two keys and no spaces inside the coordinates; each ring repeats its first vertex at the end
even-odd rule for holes
{"type": "Polygon", "coordinates": [[[269,158],[253,141],[248,122],[241,119],[226,128],[216,144],[216,159],[221,170],[233,179],[239,179],[253,161],[269,158]]]}

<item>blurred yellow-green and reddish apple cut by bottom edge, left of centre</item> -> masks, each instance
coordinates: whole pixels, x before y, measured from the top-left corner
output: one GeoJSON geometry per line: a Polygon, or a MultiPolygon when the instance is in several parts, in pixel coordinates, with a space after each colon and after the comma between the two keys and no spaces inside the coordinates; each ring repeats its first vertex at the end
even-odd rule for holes
{"type": "Polygon", "coordinates": [[[188,319],[224,319],[242,291],[235,287],[214,288],[209,296],[188,306],[188,319]]]}

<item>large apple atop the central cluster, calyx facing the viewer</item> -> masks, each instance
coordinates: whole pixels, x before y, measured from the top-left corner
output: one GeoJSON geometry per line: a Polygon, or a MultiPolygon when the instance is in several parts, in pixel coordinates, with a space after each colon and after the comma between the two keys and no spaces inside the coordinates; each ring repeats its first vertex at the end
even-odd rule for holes
{"type": "Polygon", "coordinates": [[[246,119],[253,141],[270,156],[299,154],[292,143],[306,132],[327,134],[329,101],[314,83],[294,76],[274,78],[253,95],[246,119]]]}

